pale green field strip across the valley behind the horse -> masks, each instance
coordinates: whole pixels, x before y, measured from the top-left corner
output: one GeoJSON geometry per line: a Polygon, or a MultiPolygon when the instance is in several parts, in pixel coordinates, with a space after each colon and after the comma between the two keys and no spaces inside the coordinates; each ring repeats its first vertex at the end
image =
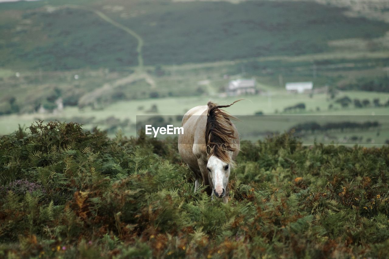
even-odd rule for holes
{"type": "MultiPolygon", "coordinates": [[[[369,99],[379,98],[381,103],[386,102],[389,99],[388,93],[373,93],[373,92],[358,92],[349,91],[339,94],[338,96],[347,95],[351,99],[369,99]]],[[[384,144],[389,139],[389,121],[387,115],[389,115],[389,107],[370,107],[370,108],[341,108],[339,104],[333,100],[329,100],[329,96],[326,94],[314,94],[312,98],[307,94],[289,94],[284,90],[273,91],[271,97],[269,96],[244,96],[245,100],[242,100],[235,105],[227,108],[226,110],[231,114],[237,116],[241,122],[237,122],[238,129],[243,139],[256,140],[263,138],[264,132],[280,132],[289,130],[292,126],[295,126],[301,122],[317,121],[320,123],[328,121],[375,121],[378,120],[382,126],[380,129],[371,129],[368,132],[352,131],[346,133],[331,133],[331,136],[337,136],[338,138],[344,135],[358,135],[363,136],[364,140],[372,138],[376,145],[384,144]],[[306,110],[300,112],[284,112],[285,107],[295,105],[296,103],[305,103],[306,110]],[[333,103],[334,108],[329,110],[328,106],[333,103]],[[319,108],[319,111],[317,111],[319,108]],[[254,115],[255,112],[263,111],[265,115],[272,115],[270,117],[258,117],[255,122],[251,121],[249,115],[254,115]],[[280,118],[287,118],[281,121],[274,121],[275,116],[280,118]],[[305,116],[305,117],[304,117],[305,116]],[[270,121],[269,121],[270,120],[270,121]],[[380,131],[379,136],[374,136],[377,131],[380,131]],[[261,133],[261,134],[260,134],[261,133]]],[[[0,134],[10,133],[13,129],[21,126],[30,125],[33,121],[38,119],[50,121],[58,119],[60,121],[79,121],[85,124],[86,128],[92,129],[97,126],[103,130],[109,130],[110,137],[114,137],[116,132],[120,129],[124,135],[134,136],[136,133],[135,125],[138,116],[146,115],[159,115],[163,117],[172,117],[175,119],[175,115],[183,115],[187,110],[197,105],[206,105],[209,101],[216,101],[221,104],[229,104],[235,97],[229,98],[209,98],[209,97],[181,97],[181,98],[159,98],[159,99],[146,99],[146,100],[132,100],[132,101],[118,101],[111,105],[107,105],[103,110],[93,110],[86,107],[79,109],[76,107],[67,107],[58,114],[12,114],[0,116],[0,134]],[[152,105],[156,105],[157,112],[147,112],[152,105]],[[142,109],[140,110],[140,107],[142,109]],[[113,122],[107,120],[107,118],[116,119],[113,122]],[[125,120],[128,119],[128,122],[125,120]],[[124,126],[120,123],[124,123],[124,126]],[[114,124],[120,124],[117,127],[112,128],[114,124]]],[[[175,121],[175,124],[180,124],[179,121],[175,121]]],[[[324,140],[323,134],[316,134],[313,136],[307,136],[303,138],[304,142],[313,143],[314,138],[324,143],[330,143],[333,140],[324,140]]],[[[338,141],[335,140],[335,143],[338,141]]],[[[349,144],[355,144],[358,142],[347,142],[349,144]]],[[[366,142],[363,142],[366,145],[366,142]]]]}

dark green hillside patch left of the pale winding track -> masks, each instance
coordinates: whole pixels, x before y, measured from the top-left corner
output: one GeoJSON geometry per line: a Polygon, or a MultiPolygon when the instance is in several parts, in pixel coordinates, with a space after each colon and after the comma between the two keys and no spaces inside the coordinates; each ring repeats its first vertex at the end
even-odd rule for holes
{"type": "Polygon", "coordinates": [[[3,29],[8,37],[2,66],[67,70],[137,65],[136,40],[93,12],[38,9],[20,16],[17,25],[3,29]]]}

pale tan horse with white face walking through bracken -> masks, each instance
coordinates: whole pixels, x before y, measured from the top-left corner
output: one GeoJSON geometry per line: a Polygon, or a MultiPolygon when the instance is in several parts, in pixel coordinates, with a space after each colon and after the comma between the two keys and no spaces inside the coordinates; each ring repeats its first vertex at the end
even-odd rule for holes
{"type": "MultiPolygon", "coordinates": [[[[240,100],[237,100],[240,101],[240,100]]],[[[184,133],[178,137],[178,150],[183,161],[195,174],[195,192],[202,181],[211,199],[213,195],[228,203],[230,189],[228,178],[235,166],[240,149],[237,128],[231,120],[237,120],[209,101],[186,112],[181,126],[184,133]]]]}

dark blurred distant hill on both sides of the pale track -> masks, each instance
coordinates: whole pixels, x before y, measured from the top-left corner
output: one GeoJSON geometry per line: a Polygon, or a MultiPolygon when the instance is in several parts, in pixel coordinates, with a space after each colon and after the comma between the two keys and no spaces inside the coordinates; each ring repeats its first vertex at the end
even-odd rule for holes
{"type": "Polygon", "coordinates": [[[331,51],[329,41],[371,40],[389,30],[383,21],[315,2],[73,2],[81,9],[68,3],[0,3],[0,67],[136,66],[139,53],[145,65],[323,53],[331,51]]]}

